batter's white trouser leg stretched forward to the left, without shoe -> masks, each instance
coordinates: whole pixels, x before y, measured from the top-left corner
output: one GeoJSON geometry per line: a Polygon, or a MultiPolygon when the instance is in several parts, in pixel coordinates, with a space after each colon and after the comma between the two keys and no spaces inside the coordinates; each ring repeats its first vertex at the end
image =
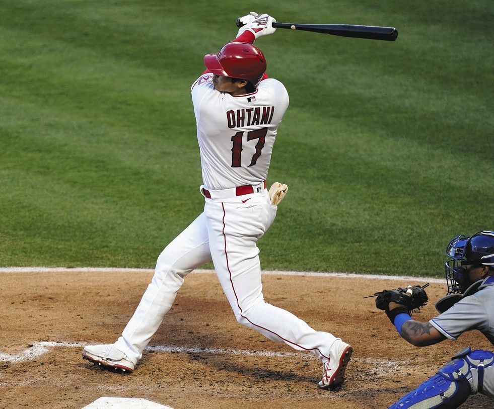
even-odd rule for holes
{"type": "Polygon", "coordinates": [[[142,357],[151,337],[170,310],[184,277],[194,268],[211,261],[202,213],[180,233],[158,257],[153,280],[115,347],[134,364],[142,357]]]}

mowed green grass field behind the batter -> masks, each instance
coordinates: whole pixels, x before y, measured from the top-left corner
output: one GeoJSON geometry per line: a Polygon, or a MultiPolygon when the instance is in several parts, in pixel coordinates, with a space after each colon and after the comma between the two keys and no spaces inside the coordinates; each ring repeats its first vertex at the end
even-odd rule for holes
{"type": "Polygon", "coordinates": [[[494,229],[490,2],[233,5],[0,1],[0,266],[154,266],[202,211],[190,85],[250,10],[399,30],[256,42],[291,97],[263,268],[439,275],[494,229]]]}

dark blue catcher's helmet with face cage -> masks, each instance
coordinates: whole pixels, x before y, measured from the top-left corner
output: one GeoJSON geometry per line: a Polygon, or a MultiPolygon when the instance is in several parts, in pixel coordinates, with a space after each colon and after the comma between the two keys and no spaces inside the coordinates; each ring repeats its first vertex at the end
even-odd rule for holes
{"type": "Polygon", "coordinates": [[[494,231],[479,231],[471,237],[457,235],[449,242],[446,256],[448,294],[463,294],[473,284],[463,266],[494,268],[494,231]]]}

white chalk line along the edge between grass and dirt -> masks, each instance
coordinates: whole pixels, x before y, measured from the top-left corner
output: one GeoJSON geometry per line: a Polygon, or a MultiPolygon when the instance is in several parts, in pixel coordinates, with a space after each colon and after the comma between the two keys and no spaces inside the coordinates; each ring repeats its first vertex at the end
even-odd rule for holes
{"type": "MultiPolygon", "coordinates": [[[[151,274],[152,269],[133,269],[133,268],[109,268],[109,267],[0,267],[0,273],[147,273],[151,274]]],[[[194,270],[193,273],[214,274],[215,270],[194,270]]],[[[429,283],[444,283],[444,278],[433,277],[412,277],[412,276],[385,276],[378,274],[356,274],[343,272],[320,273],[314,271],[281,271],[281,270],[264,270],[261,272],[265,276],[305,276],[305,277],[342,277],[342,278],[361,278],[371,280],[393,280],[393,281],[424,281],[429,283]]]]}

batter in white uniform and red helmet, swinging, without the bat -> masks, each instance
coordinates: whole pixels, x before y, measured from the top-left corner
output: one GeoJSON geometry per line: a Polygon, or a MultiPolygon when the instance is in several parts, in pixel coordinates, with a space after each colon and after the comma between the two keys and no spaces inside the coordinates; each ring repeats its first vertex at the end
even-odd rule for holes
{"type": "Polygon", "coordinates": [[[268,192],[266,177],[289,98],[283,84],[267,77],[266,59],[253,45],[274,33],[275,20],[251,13],[241,21],[245,26],[233,42],[204,56],[207,69],[191,87],[204,211],[158,257],[153,279],[122,336],[111,345],[87,346],[83,357],[131,372],[185,276],[212,260],[238,322],[317,356],[323,362],[319,387],[338,390],[351,346],[263,299],[256,242],[274,221],[276,204],[287,191],[276,183],[268,192]]]}

